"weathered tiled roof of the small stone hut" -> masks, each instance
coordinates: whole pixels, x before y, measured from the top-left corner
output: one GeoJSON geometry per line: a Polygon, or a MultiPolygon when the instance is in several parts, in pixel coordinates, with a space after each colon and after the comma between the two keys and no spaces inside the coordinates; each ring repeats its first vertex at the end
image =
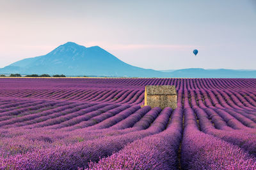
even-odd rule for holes
{"type": "Polygon", "coordinates": [[[148,95],[177,95],[174,85],[147,85],[148,95]]]}

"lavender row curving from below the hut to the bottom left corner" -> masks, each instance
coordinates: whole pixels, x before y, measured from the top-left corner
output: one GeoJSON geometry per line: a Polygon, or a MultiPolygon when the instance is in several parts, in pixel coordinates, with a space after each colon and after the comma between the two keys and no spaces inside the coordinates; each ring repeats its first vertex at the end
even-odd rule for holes
{"type": "Polygon", "coordinates": [[[171,113],[170,110],[162,111],[153,124],[143,131],[84,141],[76,145],[56,146],[22,155],[18,154],[2,159],[0,161],[1,166],[16,169],[77,169],[77,167],[87,167],[90,160],[97,161],[100,157],[118,152],[136,139],[163,131],[169,122],[171,113]]]}

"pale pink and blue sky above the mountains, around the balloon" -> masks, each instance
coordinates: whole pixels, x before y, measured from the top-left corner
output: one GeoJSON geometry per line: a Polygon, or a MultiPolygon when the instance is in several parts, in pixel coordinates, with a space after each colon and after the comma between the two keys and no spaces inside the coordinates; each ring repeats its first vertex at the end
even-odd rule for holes
{"type": "Polygon", "coordinates": [[[67,41],[143,68],[256,69],[256,0],[0,0],[0,67],[67,41]]]}

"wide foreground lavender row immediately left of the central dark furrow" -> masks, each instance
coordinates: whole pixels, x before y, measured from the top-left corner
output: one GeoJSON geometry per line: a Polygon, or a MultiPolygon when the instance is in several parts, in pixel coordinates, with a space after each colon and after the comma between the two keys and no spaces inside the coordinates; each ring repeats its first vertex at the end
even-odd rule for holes
{"type": "Polygon", "coordinates": [[[182,110],[177,109],[166,130],[138,139],[97,163],[91,162],[88,169],[179,169],[181,137],[182,110]]]}

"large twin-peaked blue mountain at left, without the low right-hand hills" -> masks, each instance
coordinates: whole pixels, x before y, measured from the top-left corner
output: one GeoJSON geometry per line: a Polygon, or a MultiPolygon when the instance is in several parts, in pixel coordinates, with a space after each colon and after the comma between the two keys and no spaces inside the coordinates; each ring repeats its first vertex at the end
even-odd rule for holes
{"type": "Polygon", "coordinates": [[[153,69],[131,66],[99,46],[86,48],[68,42],[39,57],[19,60],[0,69],[0,73],[65,74],[70,76],[164,77],[153,69]]]}

